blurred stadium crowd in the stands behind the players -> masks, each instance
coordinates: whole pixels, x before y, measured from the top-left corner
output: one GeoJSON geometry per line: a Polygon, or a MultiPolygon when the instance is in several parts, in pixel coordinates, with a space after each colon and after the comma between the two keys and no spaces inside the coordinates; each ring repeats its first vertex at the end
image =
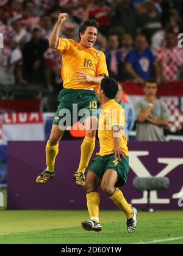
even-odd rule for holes
{"type": "Polygon", "coordinates": [[[62,59],[48,40],[60,12],[69,15],[62,38],[78,41],[79,24],[98,20],[95,48],[104,51],[109,76],[117,81],[182,81],[182,0],[1,0],[0,86],[41,86],[43,111],[56,111],[62,59]]]}

